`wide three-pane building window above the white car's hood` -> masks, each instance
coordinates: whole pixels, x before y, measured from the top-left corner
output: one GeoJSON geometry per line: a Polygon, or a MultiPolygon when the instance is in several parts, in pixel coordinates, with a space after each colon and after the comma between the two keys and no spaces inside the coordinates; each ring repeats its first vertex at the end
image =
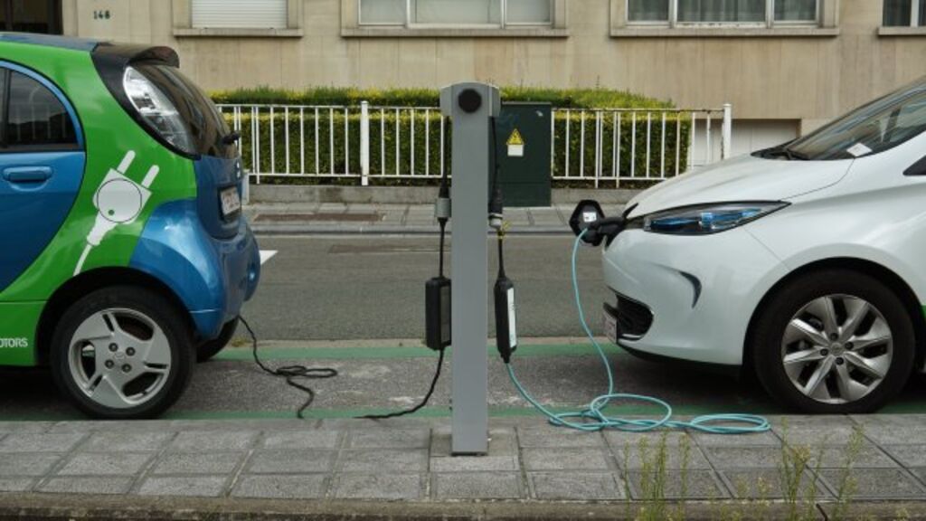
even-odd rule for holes
{"type": "Polygon", "coordinates": [[[627,0],[632,24],[816,24],[819,0],[627,0]]]}

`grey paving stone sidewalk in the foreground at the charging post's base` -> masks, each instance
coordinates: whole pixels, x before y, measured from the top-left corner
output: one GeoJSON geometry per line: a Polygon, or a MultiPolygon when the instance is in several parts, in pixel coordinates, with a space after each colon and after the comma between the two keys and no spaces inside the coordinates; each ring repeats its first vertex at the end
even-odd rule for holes
{"type": "MultiPolygon", "coordinates": [[[[774,417],[772,432],[668,436],[666,496],[782,496],[782,439],[822,458],[817,498],[834,499],[848,444],[853,499],[926,499],[926,415],[774,417]],[[686,443],[681,443],[682,438],[686,443]],[[688,445],[688,449],[683,447],[688,445]],[[682,452],[688,451],[683,458],[682,452]],[[684,478],[683,478],[684,477],[684,478]],[[759,483],[765,483],[764,487],[759,483]]],[[[447,419],[0,422],[0,493],[299,500],[644,499],[657,433],[581,433],[539,418],[493,419],[490,451],[452,457],[447,419]],[[641,440],[650,447],[641,456],[641,440]]]]}

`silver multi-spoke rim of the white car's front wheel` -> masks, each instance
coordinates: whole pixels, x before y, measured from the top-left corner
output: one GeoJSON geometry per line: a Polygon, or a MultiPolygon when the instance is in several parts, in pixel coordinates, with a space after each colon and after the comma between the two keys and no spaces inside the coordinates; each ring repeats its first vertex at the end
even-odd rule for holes
{"type": "Polygon", "coordinates": [[[784,372],[823,403],[849,403],[877,388],[891,368],[894,342],[881,311],[849,295],[808,302],[782,338],[784,372]]]}

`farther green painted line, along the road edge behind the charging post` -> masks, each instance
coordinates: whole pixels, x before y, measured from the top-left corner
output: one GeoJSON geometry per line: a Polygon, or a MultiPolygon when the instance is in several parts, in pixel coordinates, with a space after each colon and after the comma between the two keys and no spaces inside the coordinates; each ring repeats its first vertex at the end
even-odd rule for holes
{"type": "MultiPolygon", "coordinates": [[[[616,346],[605,348],[608,355],[624,356],[629,354],[616,346]]],[[[488,347],[489,355],[494,355],[495,347],[488,347]]],[[[261,360],[357,360],[357,359],[403,359],[403,358],[437,358],[437,351],[425,347],[407,348],[261,348],[257,351],[261,360]]],[[[537,356],[586,356],[597,354],[592,344],[538,344],[519,346],[515,357],[537,356]]],[[[251,349],[225,349],[216,355],[216,360],[252,361],[251,349]]]]}

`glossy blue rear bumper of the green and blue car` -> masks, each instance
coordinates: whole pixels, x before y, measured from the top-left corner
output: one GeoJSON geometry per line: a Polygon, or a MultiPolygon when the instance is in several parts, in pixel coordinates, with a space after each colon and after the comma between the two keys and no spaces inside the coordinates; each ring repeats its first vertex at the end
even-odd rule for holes
{"type": "Polygon", "coordinates": [[[219,335],[257,290],[260,252],[244,218],[230,238],[204,228],[194,200],[168,203],[145,224],[131,266],[169,286],[189,311],[198,339],[219,335]]]}

